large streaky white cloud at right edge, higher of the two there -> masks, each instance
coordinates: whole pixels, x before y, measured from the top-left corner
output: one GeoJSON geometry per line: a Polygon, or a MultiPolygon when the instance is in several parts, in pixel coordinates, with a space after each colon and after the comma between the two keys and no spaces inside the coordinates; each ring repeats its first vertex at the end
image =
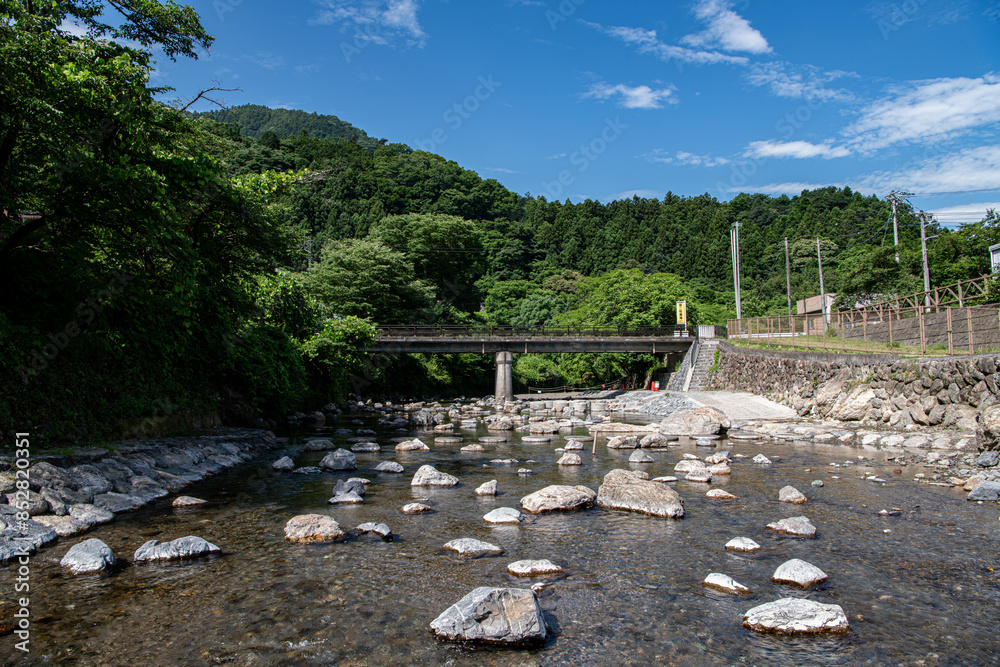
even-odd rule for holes
{"type": "Polygon", "coordinates": [[[871,104],[845,134],[861,151],[946,141],[1000,122],[1000,76],[934,79],[871,104]]]}

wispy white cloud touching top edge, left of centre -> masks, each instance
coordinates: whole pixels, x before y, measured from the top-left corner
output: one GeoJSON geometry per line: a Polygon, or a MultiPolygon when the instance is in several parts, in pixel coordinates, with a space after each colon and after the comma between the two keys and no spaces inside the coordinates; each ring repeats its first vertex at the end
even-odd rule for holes
{"type": "Polygon", "coordinates": [[[410,46],[423,47],[427,41],[417,18],[417,0],[320,0],[319,4],[324,9],[309,19],[310,25],[356,27],[366,40],[383,46],[399,36],[410,46]]]}

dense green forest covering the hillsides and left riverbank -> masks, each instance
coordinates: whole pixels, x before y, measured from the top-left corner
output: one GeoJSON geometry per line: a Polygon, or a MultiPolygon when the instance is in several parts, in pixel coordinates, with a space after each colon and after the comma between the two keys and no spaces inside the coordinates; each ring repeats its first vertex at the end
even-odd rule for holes
{"type": "MultiPolygon", "coordinates": [[[[665,325],[828,291],[921,289],[919,223],[850,189],[547,201],[334,116],[246,105],[188,113],[149,84],[149,49],[197,57],[188,7],[0,0],[0,426],[52,443],[143,417],[233,424],[349,393],[486,394],[490,355],[373,360],[375,324],[665,325]],[[59,29],[67,17],[87,36],[59,29]],[[106,38],[123,38],[123,43],[106,38]]],[[[363,119],[359,122],[363,124],[363,119]]],[[[929,231],[933,284],[989,271],[1000,219],[929,231]]],[[[517,355],[516,389],[642,384],[652,355],[517,355]]],[[[5,438],[5,441],[9,439],[5,438]]]]}

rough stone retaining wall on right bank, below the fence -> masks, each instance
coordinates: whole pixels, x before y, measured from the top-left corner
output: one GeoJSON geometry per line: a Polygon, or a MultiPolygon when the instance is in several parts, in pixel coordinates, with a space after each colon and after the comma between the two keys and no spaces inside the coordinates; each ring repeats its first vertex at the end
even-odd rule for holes
{"type": "Polygon", "coordinates": [[[712,389],[749,391],[799,415],[841,421],[975,429],[998,402],[1000,356],[899,359],[743,349],[723,342],[712,389]]]}

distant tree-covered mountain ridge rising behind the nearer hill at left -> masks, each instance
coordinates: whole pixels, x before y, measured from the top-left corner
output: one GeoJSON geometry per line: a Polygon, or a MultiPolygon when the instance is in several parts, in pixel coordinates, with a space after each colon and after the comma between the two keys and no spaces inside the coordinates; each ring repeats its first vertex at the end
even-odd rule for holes
{"type": "Polygon", "coordinates": [[[267,131],[274,132],[279,138],[296,137],[305,130],[310,137],[316,139],[356,140],[368,147],[379,145],[379,140],[347,121],[336,116],[309,113],[298,109],[271,109],[260,104],[242,104],[193,114],[198,118],[211,118],[217,123],[236,125],[240,134],[252,139],[260,139],[267,131]]]}

